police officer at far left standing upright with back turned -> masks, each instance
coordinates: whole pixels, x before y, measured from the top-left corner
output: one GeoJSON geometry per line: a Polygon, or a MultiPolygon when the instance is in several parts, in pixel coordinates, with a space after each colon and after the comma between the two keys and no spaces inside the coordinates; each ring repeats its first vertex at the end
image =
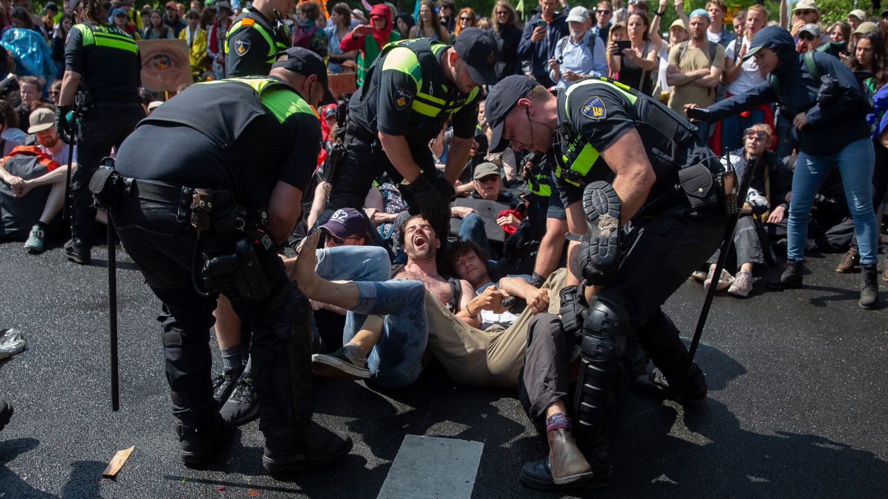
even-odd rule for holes
{"type": "Polygon", "coordinates": [[[56,131],[71,144],[75,139],[72,109],[80,116],[76,123],[77,170],[71,184],[71,240],[64,250],[69,260],[89,265],[97,223],[87,183],[102,158],[111,153],[111,147],[120,147],[145,111],[139,100],[139,47],[122,30],[105,24],[107,12],[99,0],[83,0],[75,9],[82,22],[71,27],[65,44],[56,131]]]}

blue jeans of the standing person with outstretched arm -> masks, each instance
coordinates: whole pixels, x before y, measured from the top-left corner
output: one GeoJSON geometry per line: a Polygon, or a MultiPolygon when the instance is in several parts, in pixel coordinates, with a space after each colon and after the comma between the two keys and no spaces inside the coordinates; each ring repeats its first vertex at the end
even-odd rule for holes
{"type": "Polygon", "coordinates": [[[848,200],[848,211],[854,219],[854,234],[860,244],[860,264],[876,264],[876,214],[873,211],[872,179],[876,153],[870,139],[860,139],[845,146],[836,153],[814,156],[799,153],[796,171],[792,176],[792,202],[789,203],[789,245],[787,258],[802,261],[805,259],[805,238],[808,230],[808,215],[814,201],[814,194],[821,188],[823,179],[838,165],[842,175],[844,196],[848,200]]]}

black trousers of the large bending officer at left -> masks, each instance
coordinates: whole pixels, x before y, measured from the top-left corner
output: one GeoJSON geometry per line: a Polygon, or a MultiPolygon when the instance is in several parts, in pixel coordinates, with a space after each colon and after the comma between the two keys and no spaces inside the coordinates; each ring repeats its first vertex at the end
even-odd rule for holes
{"type": "MultiPolygon", "coordinates": [[[[158,321],[173,415],[183,424],[201,426],[218,411],[209,344],[216,297],[202,297],[194,290],[193,266],[202,266],[204,254],[212,258],[234,252],[237,236],[202,234],[200,261],[194,263],[194,229],[179,223],[176,215],[174,205],[135,198],[124,198],[111,210],[123,247],[163,302],[158,321]]],[[[290,284],[280,258],[274,257],[280,265],[266,277],[281,292],[255,301],[229,297],[234,312],[253,330],[253,382],[259,396],[259,428],[266,440],[281,434],[281,428],[285,434],[304,430],[312,416],[311,305],[290,284]]]]}

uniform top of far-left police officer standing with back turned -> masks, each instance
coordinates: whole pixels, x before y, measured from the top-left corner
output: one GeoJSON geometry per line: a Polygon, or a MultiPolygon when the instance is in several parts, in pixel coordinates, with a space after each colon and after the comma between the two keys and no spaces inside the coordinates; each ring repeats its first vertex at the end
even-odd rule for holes
{"type": "Polygon", "coordinates": [[[65,70],[83,75],[94,102],[139,102],[139,46],[118,28],[85,23],[72,26],[65,43],[65,70]]]}

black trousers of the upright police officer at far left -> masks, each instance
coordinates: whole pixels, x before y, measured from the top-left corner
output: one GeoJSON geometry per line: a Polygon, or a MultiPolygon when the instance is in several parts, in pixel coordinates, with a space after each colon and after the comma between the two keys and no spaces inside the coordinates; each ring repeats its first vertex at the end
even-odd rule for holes
{"type": "MultiPolygon", "coordinates": [[[[71,196],[74,210],[71,217],[71,237],[82,239],[91,245],[98,232],[96,209],[92,206],[90,178],[99,170],[99,162],[111,155],[145,117],[145,110],[137,102],[99,102],[83,114],[77,123],[79,136],[76,142],[77,170],[71,177],[71,196]]],[[[158,147],[163,147],[158,145],[158,147]]],[[[159,154],[145,151],[146,155],[159,154]]]]}

